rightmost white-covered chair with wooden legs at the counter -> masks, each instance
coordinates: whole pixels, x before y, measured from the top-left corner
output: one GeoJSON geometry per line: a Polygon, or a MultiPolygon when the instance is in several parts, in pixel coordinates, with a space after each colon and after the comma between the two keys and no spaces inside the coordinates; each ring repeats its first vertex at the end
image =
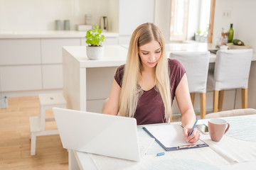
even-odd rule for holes
{"type": "Polygon", "coordinates": [[[213,89],[213,112],[222,111],[224,90],[228,89],[242,89],[242,108],[247,108],[251,60],[252,49],[218,50],[214,72],[208,73],[208,86],[213,89]]]}

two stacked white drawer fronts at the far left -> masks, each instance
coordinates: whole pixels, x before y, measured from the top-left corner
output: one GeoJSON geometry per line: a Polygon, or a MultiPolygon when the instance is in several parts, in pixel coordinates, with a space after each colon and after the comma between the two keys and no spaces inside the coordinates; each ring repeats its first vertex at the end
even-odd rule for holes
{"type": "Polygon", "coordinates": [[[0,40],[0,91],[42,89],[39,39],[0,40]]]}

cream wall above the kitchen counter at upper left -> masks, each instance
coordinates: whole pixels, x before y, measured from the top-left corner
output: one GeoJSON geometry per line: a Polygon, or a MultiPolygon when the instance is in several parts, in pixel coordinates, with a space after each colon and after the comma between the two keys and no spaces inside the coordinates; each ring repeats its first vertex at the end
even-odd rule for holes
{"type": "MultiPolygon", "coordinates": [[[[85,14],[92,15],[92,23],[100,23],[100,16],[117,17],[117,10],[110,4],[117,0],[0,0],[0,30],[54,30],[55,20],[85,23],[85,14]],[[113,11],[116,15],[113,14],[113,11]]],[[[116,20],[117,22],[117,20],[116,20]]],[[[117,31],[113,23],[112,30],[117,31]]]]}

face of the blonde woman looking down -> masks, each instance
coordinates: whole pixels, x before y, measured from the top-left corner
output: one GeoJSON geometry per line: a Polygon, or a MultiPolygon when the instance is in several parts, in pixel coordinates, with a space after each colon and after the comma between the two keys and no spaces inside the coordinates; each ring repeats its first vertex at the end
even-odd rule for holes
{"type": "Polygon", "coordinates": [[[156,40],[139,47],[139,57],[142,60],[142,67],[154,68],[161,56],[161,46],[156,40]]]}

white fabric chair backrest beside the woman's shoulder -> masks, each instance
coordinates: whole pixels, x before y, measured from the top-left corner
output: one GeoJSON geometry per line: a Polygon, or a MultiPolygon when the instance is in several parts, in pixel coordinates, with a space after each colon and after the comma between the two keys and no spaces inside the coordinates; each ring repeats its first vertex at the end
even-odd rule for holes
{"type": "Polygon", "coordinates": [[[190,93],[206,93],[210,52],[171,52],[170,58],[186,69],[190,93]]]}

